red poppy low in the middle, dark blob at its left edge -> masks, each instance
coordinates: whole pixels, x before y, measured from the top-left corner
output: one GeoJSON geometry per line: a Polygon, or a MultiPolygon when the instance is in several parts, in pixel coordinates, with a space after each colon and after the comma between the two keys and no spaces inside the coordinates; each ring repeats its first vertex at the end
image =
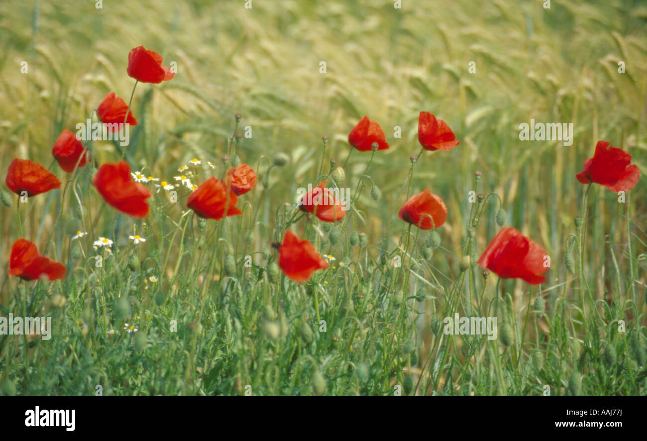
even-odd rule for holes
{"type": "Polygon", "coordinates": [[[285,231],[283,243],[279,248],[281,270],[297,282],[305,282],[316,270],[325,270],[329,264],[314,249],[313,244],[300,241],[292,231],[285,231]]]}

